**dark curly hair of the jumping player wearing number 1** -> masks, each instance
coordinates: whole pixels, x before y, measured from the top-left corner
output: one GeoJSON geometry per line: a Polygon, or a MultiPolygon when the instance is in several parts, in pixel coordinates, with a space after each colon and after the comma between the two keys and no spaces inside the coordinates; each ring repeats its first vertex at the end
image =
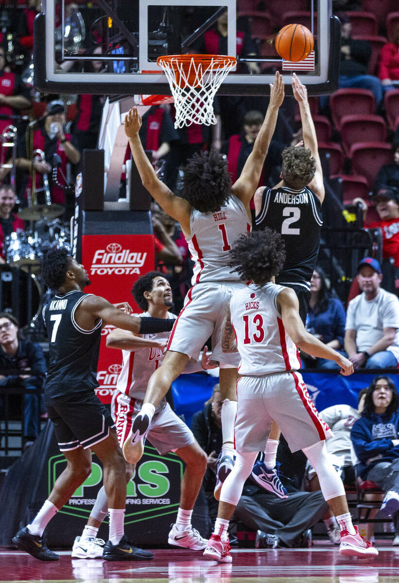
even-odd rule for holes
{"type": "Polygon", "coordinates": [[[220,210],[230,197],[232,179],[222,154],[194,154],[183,168],[181,196],[201,213],[220,210]]]}

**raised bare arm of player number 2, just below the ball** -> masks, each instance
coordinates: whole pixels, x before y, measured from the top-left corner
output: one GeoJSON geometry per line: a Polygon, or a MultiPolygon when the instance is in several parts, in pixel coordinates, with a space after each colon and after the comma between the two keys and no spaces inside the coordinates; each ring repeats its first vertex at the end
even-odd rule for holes
{"type": "Polygon", "coordinates": [[[299,104],[300,120],[302,121],[303,143],[309,148],[311,155],[316,160],[316,173],[309,184],[320,202],[324,199],[323,170],[321,169],[320,156],[318,155],[316,129],[314,129],[311,118],[309,101],[307,100],[307,90],[300,82],[296,73],[292,75],[292,90],[296,101],[299,104]]]}

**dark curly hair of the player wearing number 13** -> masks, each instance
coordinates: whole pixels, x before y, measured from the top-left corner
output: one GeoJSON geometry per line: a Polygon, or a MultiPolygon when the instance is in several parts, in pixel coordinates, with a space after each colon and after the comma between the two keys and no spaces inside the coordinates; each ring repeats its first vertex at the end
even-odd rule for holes
{"type": "Polygon", "coordinates": [[[264,231],[240,235],[233,243],[227,265],[244,281],[252,280],[264,286],[272,276],[278,275],[284,261],[284,241],[279,233],[267,227],[264,231]]]}

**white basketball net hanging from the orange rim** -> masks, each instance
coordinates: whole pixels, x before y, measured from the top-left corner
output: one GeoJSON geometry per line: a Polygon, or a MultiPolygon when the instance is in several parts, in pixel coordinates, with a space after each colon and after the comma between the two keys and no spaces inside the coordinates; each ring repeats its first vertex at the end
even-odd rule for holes
{"type": "Polygon", "coordinates": [[[162,67],[174,98],[174,127],[216,124],[213,99],[237,59],[227,55],[165,55],[156,62],[162,67]]]}

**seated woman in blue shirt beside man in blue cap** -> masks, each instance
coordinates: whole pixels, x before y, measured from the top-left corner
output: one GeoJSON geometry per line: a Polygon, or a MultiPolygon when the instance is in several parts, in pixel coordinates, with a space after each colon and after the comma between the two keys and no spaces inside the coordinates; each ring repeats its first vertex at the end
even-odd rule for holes
{"type": "MultiPolygon", "coordinates": [[[[327,287],[323,269],[316,267],[310,280],[310,303],[306,318],[306,328],[321,342],[340,350],[344,346],[345,310],[341,301],[334,297],[327,287]]],[[[343,354],[343,352],[341,352],[343,354]]],[[[336,368],[338,365],[327,359],[320,359],[301,352],[306,367],[336,368]]]]}

